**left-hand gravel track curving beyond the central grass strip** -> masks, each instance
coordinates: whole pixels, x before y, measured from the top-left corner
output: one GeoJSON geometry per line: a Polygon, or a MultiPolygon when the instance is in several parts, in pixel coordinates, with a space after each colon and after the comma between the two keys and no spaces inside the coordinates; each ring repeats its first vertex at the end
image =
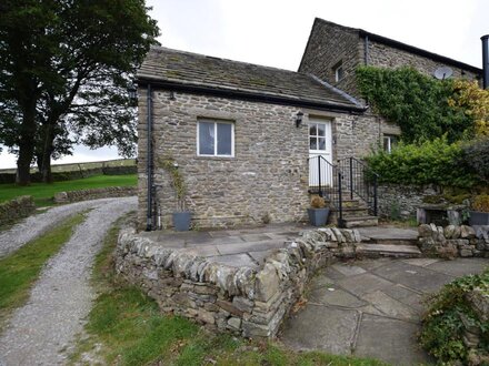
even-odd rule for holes
{"type": "Polygon", "coordinates": [[[77,202],[49,209],[39,215],[29,216],[12,228],[0,233],[0,258],[18,250],[34,237],[42,235],[64,218],[73,216],[81,211],[98,207],[101,204],[118,200],[119,199],[102,199],[77,202]]]}

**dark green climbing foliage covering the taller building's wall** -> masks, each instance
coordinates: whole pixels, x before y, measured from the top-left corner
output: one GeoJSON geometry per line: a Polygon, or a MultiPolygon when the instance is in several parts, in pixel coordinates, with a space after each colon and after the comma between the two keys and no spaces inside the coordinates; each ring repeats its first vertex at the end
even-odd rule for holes
{"type": "Polygon", "coordinates": [[[453,142],[473,126],[472,115],[461,108],[466,99],[449,102],[455,90],[451,80],[439,81],[413,68],[360,67],[357,77],[363,98],[376,112],[399,124],[405,142],[442,134],[453,142]]]}

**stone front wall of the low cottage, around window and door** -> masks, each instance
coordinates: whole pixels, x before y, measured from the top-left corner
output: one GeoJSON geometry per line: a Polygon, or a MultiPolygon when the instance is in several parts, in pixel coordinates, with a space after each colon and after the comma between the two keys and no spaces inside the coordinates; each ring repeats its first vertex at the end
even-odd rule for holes
{"type": "MultiPolygon", "coordinates": [[[[153,92],[153,182],[163,227],[171,225],[177,200],[161,160],[171,156],[187,186],[186,206],[198,227],[256,225],[265,221],[296,222],[306,218],[308,197],[309,115],[332,121],[333,161],[362,157],[379,143],[382,131],[395,129],[370,114],[302,110],[299,108],[224,98],[153,92]],[[197,155],[199,118],[234,124],[234,156],[197,155]]],[[[139,215],[147,215],[146,95],[139,99],[139,215]]]]}

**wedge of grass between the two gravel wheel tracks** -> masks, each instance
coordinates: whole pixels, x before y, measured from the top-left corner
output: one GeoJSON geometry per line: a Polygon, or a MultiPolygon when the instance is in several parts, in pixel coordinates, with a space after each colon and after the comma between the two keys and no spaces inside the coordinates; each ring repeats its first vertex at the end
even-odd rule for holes
{"type": "Polygon", "coordinates": [[[69,241],[84,218],[80,213],[0,260],[0,329],[12,311],[26,303],[46,262],[69,241]]]}

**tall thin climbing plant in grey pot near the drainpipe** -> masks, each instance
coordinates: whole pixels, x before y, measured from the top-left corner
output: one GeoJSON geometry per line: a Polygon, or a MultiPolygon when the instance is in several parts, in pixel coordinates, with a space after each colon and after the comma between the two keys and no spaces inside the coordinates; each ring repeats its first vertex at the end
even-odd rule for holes
{"type": "Polygon", "coordinates": [[[186,232],[190,230],[191,212],[186,210],[187,190],[183,182],[183,176],[179,170],[178,163],[172,157],[166,157],[161,161],[162,167],[171,176],[171,185],[174,190],[177,199],[177,211],[172,213],[173,227],[178,232],[186,232]]]}

